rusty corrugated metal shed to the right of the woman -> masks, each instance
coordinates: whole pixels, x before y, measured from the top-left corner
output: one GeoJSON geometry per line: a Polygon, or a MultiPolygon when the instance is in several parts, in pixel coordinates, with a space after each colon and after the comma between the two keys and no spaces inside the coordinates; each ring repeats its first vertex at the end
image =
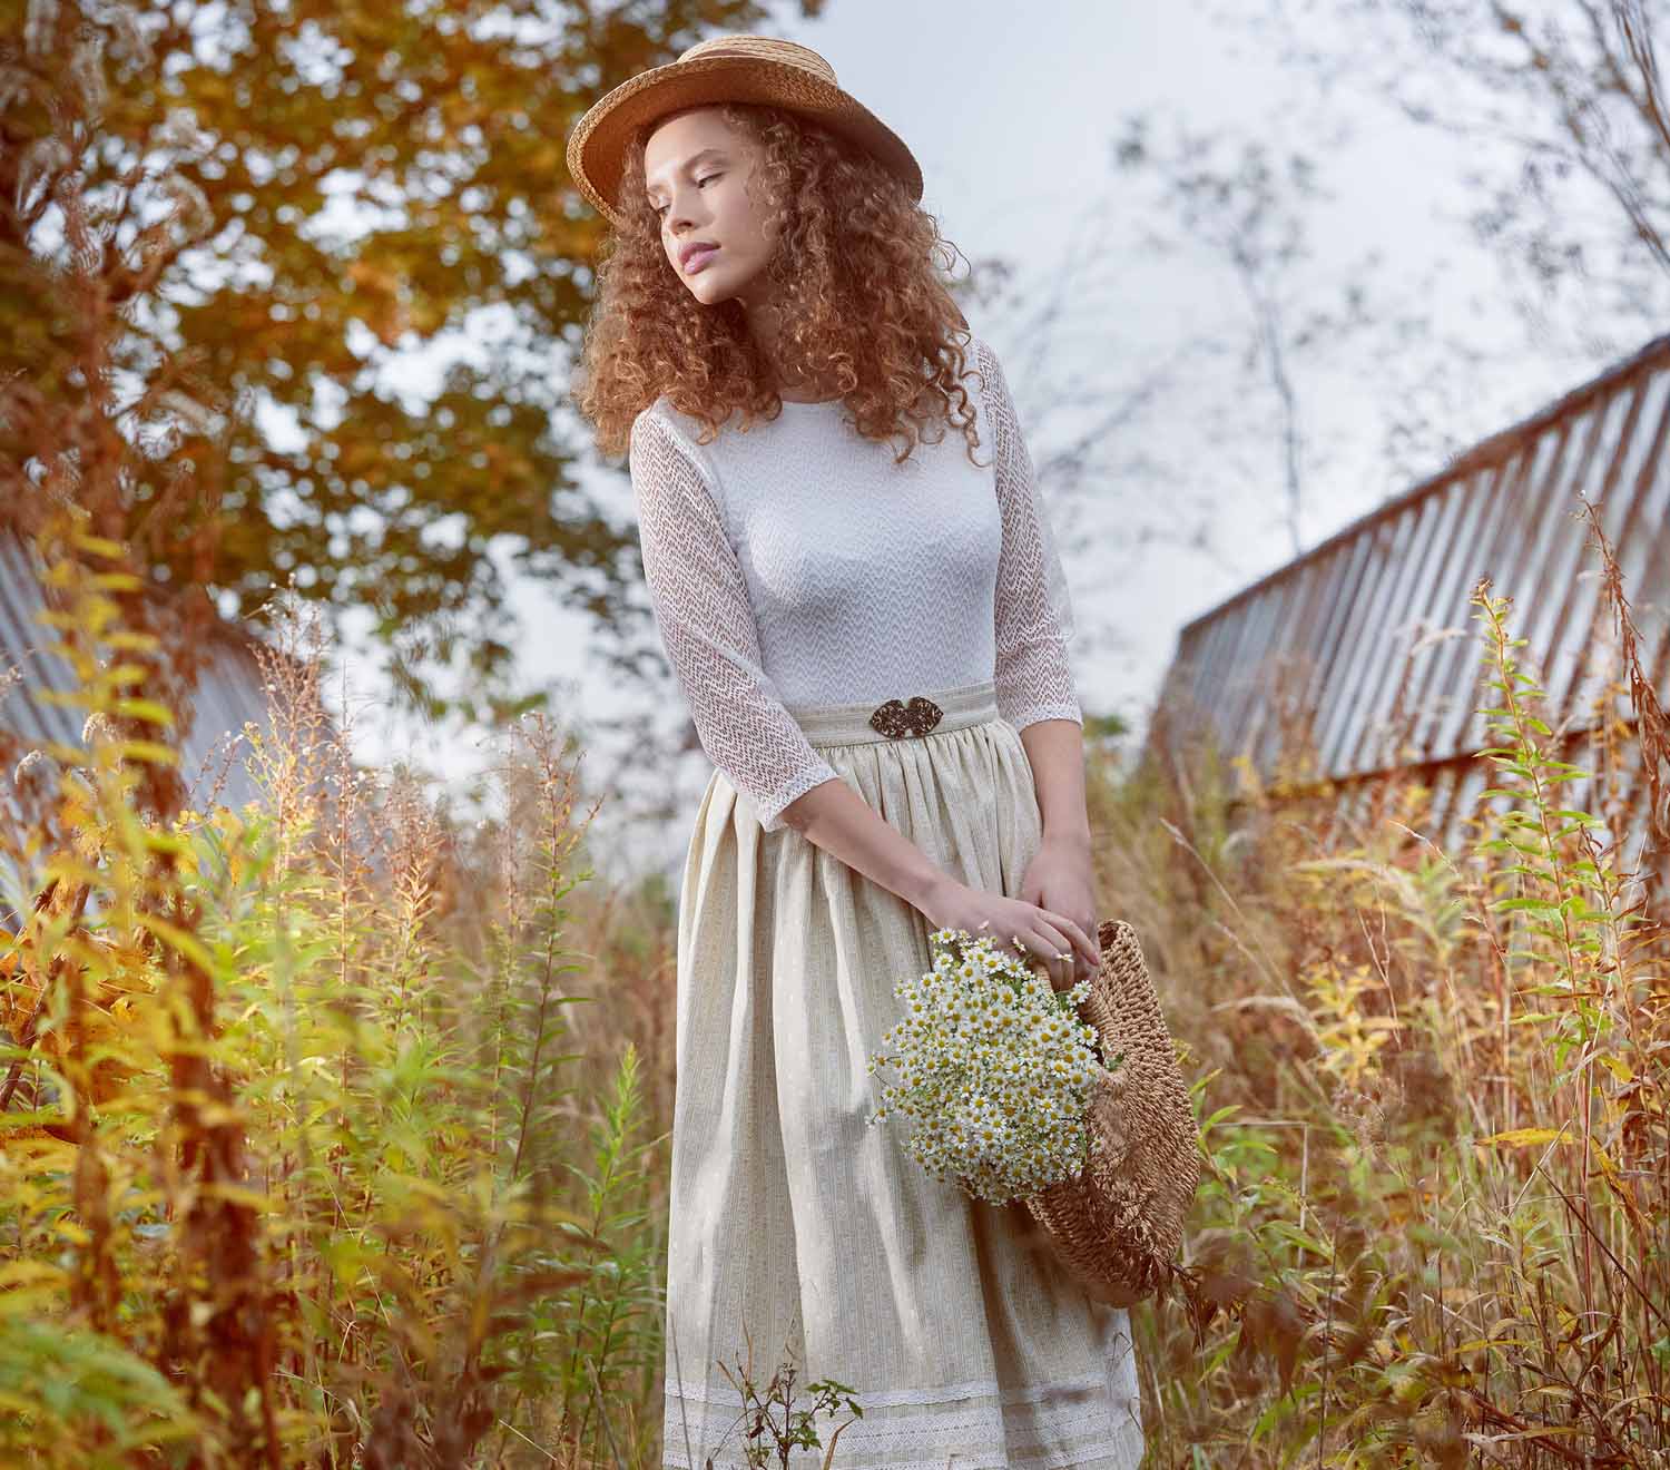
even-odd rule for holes
{"type": "MultiPolygon", "coordinates": [[[[1426,835],[1455,840],[1493,783],[1491,763],[1476,755],[1488,743],[1478,707],[1496,700],[1486,698],[1495,692],[1468,605],[1488,575],[1495,595],[1513,598],[1510,630],[1528,640],[1518,656],[1546,682],[1548,723],[1568,735],[1565,758],[1585,765],[1600,687],[1585,650],[1610,615],[1578,496],[1597,504],[1617,551],[1642,667],[1663,698],[1667,434],[1662,336],[1194,618],[1177,636],[1147,753],[1176,755],[1206,738],[1268,782],[1298,733],[1314,743],[1309,788],[1331,783],[1338,810],[1361,810],[1378,778],[1411,772],[1433,787],[1426,835]]],[[[1632,862],[1648,815],[1638,762],[1632,730],[1622,793],[1632,862]]],[[[1600,810],[1588,787],[1573,782],[1565,803],[1600,810]]]]}

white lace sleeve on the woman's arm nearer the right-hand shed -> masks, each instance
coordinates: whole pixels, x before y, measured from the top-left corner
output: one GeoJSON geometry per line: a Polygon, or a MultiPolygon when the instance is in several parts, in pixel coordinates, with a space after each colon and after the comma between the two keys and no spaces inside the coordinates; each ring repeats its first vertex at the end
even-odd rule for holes
{"type": "Polygon", "coordinates": [[[1084,723],[1067,640],[1072,600],[1039,498],[1032,456],[997,354],[975,339],[987,418],[992,424],[997,503],[1004,541],[997,558],[997,707],[1017,730],[1039,720],[1084,723]]]}

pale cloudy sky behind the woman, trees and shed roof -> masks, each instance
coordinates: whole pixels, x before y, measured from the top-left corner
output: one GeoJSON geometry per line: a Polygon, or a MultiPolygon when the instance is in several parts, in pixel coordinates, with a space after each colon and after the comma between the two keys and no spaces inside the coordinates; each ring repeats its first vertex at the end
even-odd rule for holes
{"type": "MultiPolygon", "coordinates": [[[[1144,232],[1162,220],[1139,180],[1112,167],[1112,142],[1129,114],[1152,109],[1231,139],[1308,144],[1319,104],[1256,37],[1194,0],[964,0],[954,13],[955,25],[939,5],[832,0],[817,20],[780,12],[758,30],[818,50],[840,85],[905,139],[922,165],[924,207],[964,256],[1014,262],[1017,306],[985,314],[970,306],[969,316],[1005,364],[1035,461],[1091,421],[1084,406],[1062,408],[1067,399],[1116,401],[1159,384],[1109,436],[1106,466],[1074,486],[1070,503],[1042,479],[1079,625],[1072,656],[1080,700],[1089,712],[1124,715],[1141,733],[1184,623],[1289,560],[1293,545],[1281,521],[1274,419],[1266,434],[1254,403],[1241,428],[1249,449],[1212,448],[1202,414],[1219,414],[1229,368],[1181,357],[1182,344],[1202,337],[1244,339],[1246,296],[1222,259],[1196,241],[1142,247],[1144,232]],[[1037,352],[1025,322],[1064,281],[1077,282],[1075,294],[1047,352],[1037,352]],[[1196,373],[1202,376],[1189,376],[1196,373]]],[[[1343,112],[1329,99],[1329,115],[1343,112]]],[[[1304,282],[1326,291],[1379,252],[1371,269],[1378,301],[1418,294],[1436,306],[1450,337],[1505,364],[1436,404],[1451,448],[1521,418],[1608,361],[1513,351],[1523,327],[1495,262],[1461,224],[1475,162],[1455,139],[1364,102],[1353,137],[1329,152],[1333,199],[1314,212],[1314,266],[1304,282]]],[[[1643,326],[1640,339],[1648,336],[1643,326]]],[[[458,344],[479,359],[493,349],[486,324],[458,344]]],[[[441,352],[412,356],[394,381],[424,393],[443,362],[441,352]]],[[[1304,546],[1416,478],[1394,473],[1381,443],[1383,396],[1423,391],[1396,368],[1339,354],[1306,369],[1303,404],[1318,458],[1306,484],[1304,546]]],[[[578,421],[569,428],[576,443],[586,438],[578,421]]],[[[1421,473],[1440,468],[1435,456],[1421,473]]],[[[596,464],[584,483],[620,525],[631,523],[623,469],[596,464]]],[[[673,872],[711,765],[691,750],[676,770],[645,770],[631,738],[608,722],[648,705],[658,728],[676,728],[685,720],[676,690],[668,683],[663,697],[648,698],[615,687],[588,658],[588,621],[556,608],[549,590],[519,586],[514,601],[529,633],[519,673],[549,688],[553,710],[581,732],[581,780],[606,785],[593,830],[600,865],[673,872]],[[636,802],[665,797],[668,787],[671,820],[633,817],[636,802]]],[[[468,780],[488,758],[468,735],[392,715],[362,667],[351,663],[347,677],[366,712],[362,757],[409,753],[453,780],[468,780]]]]}

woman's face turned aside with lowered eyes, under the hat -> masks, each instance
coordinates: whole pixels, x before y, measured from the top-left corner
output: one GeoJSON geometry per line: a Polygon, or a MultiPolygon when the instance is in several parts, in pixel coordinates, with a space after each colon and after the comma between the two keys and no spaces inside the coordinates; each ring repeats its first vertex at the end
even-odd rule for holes
{"type": "Polygon", "coordinates": [[[758,159],[758,144],[735,132],[715,107],[668,119],[645,144],[645,189],[661,220],[661,249],[705,306],[765,301],[777,224],[755,179],[758,159]],[[696,244],[716,249],[686,257],[696,244]]]}

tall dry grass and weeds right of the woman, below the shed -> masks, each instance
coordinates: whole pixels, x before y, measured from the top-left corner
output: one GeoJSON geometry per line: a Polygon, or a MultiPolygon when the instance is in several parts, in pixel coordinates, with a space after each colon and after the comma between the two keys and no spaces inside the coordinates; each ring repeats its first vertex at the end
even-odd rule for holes
{"type": "Polygon", "coordinates": [[[1670,852],[1670,723],[1590,521],[1615,628],[1590,667],[1615,673],[1586,760],[1481,581],[1495,780],[1455,850],[1409,772],[1356,824],[1326,788],[1293,800],[1303,745],[1263,787],[1204,748],[1097,785],[1206,1156],[1201,1290],[1142,1315],[1149,1463],[1670,1463],[1670,944],[1615,800],[1643,758],[1670,852]]]}

